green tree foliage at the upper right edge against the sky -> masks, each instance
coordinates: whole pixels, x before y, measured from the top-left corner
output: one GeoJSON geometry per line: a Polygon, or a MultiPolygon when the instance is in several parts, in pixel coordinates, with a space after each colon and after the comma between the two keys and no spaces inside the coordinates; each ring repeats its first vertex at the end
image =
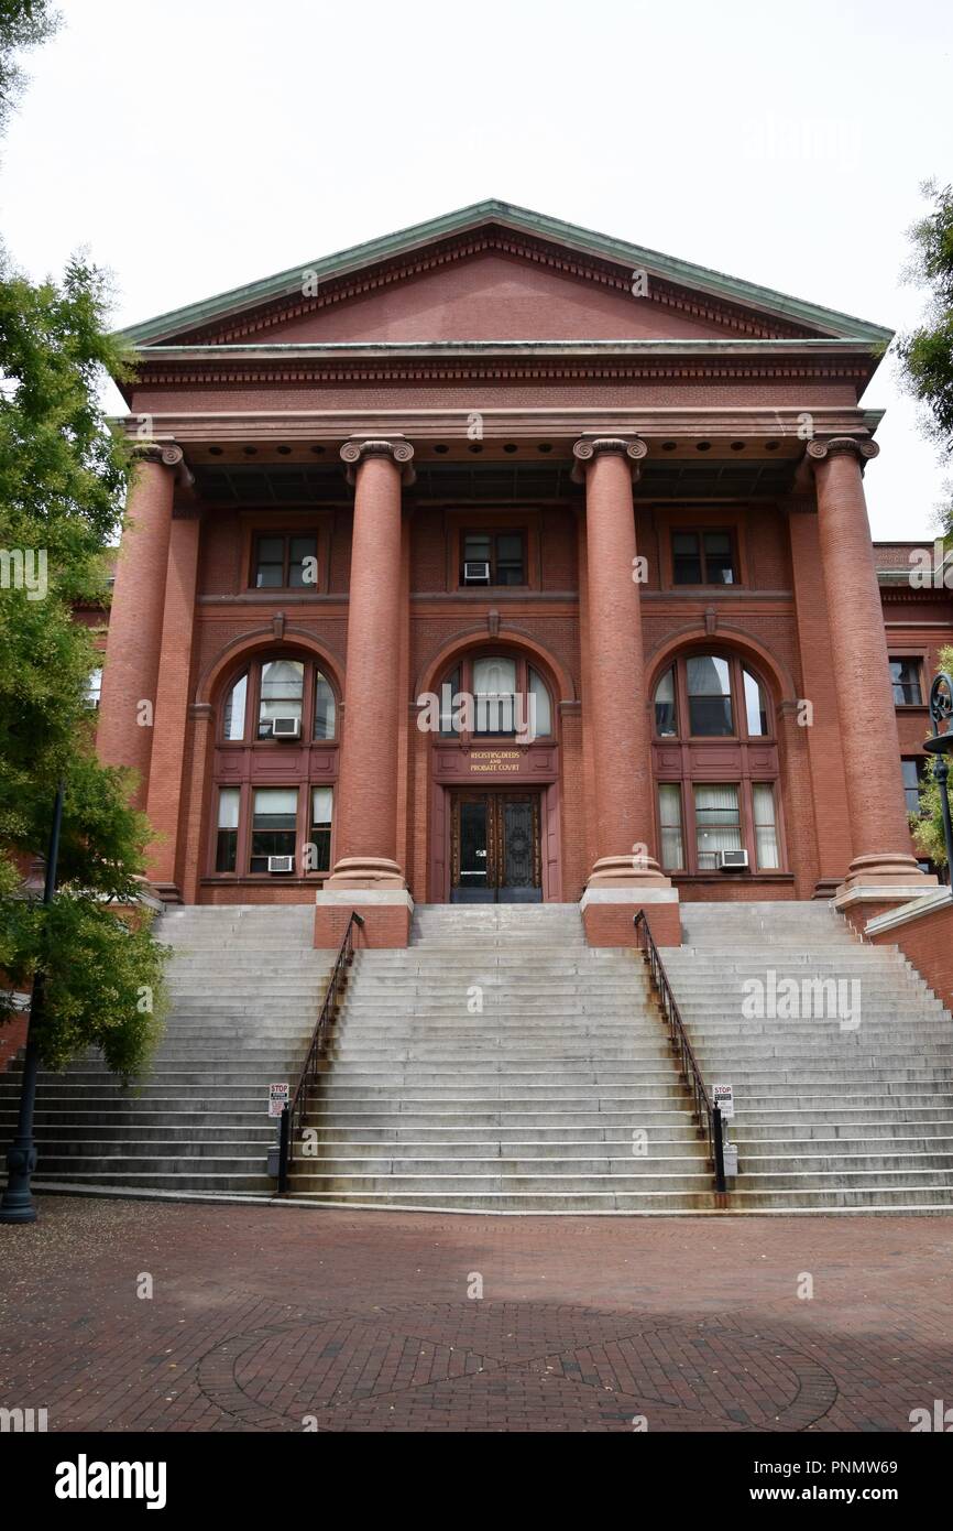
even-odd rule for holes
{"type": "MultiPolygon", "coordinates": [[[[913,225],[910,280],[927,288],[924,323],[898,343],[907,386],[925,406],[927,430],[944,453],[953,453],[953,187],[939,190],[927,181],[922,194],[933,211],[913,225]]],[[[953,507],[942,513],[945,533],[953,534],[953,507]]]]}

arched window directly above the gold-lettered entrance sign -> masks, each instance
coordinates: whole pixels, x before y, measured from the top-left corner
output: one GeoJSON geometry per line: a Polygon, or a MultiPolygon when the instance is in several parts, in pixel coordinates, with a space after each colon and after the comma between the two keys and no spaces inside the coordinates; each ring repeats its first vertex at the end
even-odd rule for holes
{"type": "Polygon", "coordinates": [[[552,698],[540,672],[519,654],[476,654],[444,677],[441,733],[459,738],[546,739],[552,698]]]}

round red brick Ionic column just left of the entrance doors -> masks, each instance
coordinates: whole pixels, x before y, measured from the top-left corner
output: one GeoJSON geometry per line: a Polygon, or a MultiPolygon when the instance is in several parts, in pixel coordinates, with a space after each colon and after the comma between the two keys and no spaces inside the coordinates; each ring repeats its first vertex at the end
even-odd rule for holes
{"type": "Polygon", "coordinates": [[[327,888],[404,888],[398,853],[401,482],[407,441],[341,447],[355,484],[344,733],[327,888]]]}

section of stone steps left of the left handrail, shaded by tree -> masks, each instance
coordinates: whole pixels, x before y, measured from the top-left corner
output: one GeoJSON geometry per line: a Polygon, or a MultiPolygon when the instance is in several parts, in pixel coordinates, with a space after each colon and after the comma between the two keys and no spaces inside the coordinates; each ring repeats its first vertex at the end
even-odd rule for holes
{"type": "MultiPolygon", "coordinates": [[[[41,1073],[37,1185],[271,1194],[268,1085],[294,1087],[330,974],[312,929],[303,905],[164,914],[171,1009],[153,1067],[132,1092],[92,1053],[41,1073]]],[[[17,1064],[0,1075],[3,1151],[18,1095],[17,1064]]]]}

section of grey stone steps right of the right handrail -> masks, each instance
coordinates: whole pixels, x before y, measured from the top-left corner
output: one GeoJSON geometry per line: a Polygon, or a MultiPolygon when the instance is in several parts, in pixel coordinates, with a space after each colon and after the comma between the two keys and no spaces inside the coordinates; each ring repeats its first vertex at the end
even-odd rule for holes
{"type": "Polygon", "coordinates": [[[734,1087],[733,1211],[953,1209],[953,1023],[896,948],[791,902],[682,905],[682,940],[685,1029],[734,1087]]]}

